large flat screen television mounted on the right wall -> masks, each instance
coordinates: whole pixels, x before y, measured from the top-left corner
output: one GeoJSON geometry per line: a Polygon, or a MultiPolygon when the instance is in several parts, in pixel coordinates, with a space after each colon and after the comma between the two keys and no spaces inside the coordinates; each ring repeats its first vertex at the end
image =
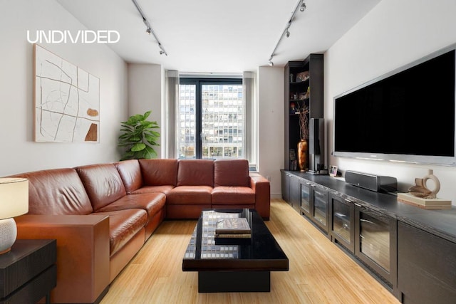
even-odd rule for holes
{"type": "Polygon", "coordinates": [[[455,166],[455,49],[336,96],[333,155],[455,166]]]}

